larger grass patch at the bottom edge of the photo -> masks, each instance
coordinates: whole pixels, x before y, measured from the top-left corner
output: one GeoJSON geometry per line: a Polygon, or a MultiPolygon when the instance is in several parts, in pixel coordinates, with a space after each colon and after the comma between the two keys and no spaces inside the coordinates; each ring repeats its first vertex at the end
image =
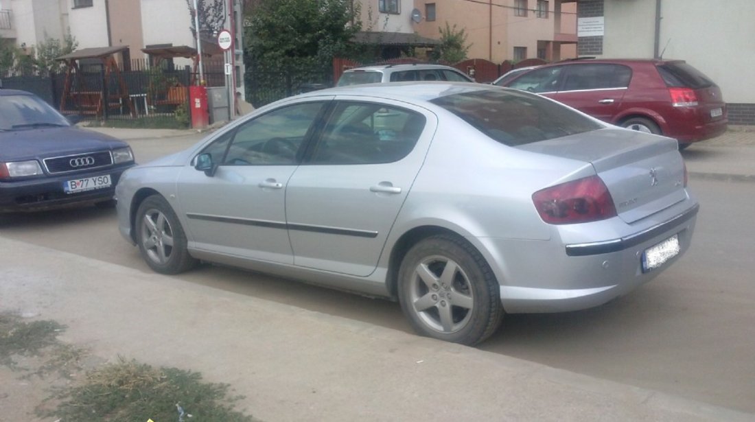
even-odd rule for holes
{"type": "Polygon", "coordinates": [[[123,358],[89,372],[82,384],[66,387],[50,399],[57,402],[56,408],[39,416],[79,422],[254,421],[233,410],[242,397],[230,396],[228,384],[205,383],[197,372],[153,368],[123,358]]]}

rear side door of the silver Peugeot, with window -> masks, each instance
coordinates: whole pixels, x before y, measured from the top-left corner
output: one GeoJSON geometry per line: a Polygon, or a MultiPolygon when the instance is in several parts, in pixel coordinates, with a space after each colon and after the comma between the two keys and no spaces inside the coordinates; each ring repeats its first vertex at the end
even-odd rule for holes
{"type": "Polygon", "coordinates": [[[342,98],[288,182],[294,264],[368,276],[436,128],[425,109],[342,98]]]}

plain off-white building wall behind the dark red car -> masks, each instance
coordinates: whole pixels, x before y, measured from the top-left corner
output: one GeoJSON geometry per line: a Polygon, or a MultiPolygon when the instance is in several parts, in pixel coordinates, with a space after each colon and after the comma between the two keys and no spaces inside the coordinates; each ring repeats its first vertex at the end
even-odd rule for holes
{"type": "MultiPolygon", "coordinates": [[[[755,103],[755,1],[662,0],[660,51],[710,76],[727,103],[755,103]]],[[[606,0],[602,57],[653,57],[655,0],[606,0]]]]}

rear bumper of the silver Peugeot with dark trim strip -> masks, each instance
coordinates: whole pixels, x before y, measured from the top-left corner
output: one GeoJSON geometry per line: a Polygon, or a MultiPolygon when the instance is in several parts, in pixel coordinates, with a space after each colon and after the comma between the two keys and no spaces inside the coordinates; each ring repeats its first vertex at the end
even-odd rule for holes
{"type": "Polygon", "coordinates": [[[695,202],[661,223],[602,242],[481,240],[497,263],[507,313],[584,310],[633,291],[679,260],[691,244],[697,212],[695,202]],[[643,272],[644,251],[674,235],[679,254],[643,272]]]}

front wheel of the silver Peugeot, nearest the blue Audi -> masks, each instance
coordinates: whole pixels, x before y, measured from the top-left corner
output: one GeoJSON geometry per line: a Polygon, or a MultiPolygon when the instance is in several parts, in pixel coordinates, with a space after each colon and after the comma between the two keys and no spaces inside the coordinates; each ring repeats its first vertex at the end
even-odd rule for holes
{"type": "Polygon", "coordinates": [[[162,196],[149,196],[139,205],[134,230],[143,259],[157,273],[178,274],[196,266],[186,249],[186,233],[162,196]]]}

